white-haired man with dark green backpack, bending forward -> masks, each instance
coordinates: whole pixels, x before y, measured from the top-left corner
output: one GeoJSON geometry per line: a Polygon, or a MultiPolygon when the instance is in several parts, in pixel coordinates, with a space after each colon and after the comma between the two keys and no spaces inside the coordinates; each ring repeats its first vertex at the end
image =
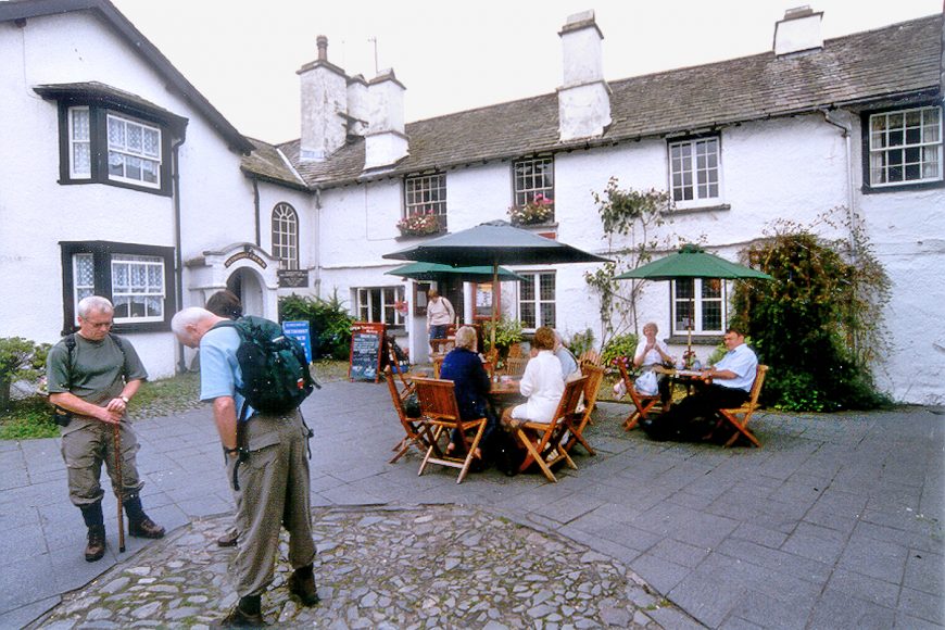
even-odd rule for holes
{"type": "Polygon", "coordinates": [[[273,580],[280,524],[289,531],[289,591],[314,606],[319,598],[306,457],[311,433],[298,410],[312,387],[304,352],[277,324],[257,317],[232,322],[189,307],[174,316],[171,327],[180,343],[200,348],[200,400],[213,403],[237,500],[240,598],[223,626],[264,625],[261,597],[273,580]],[[287,366],[294,371],[279,371],[287,366]],[[280,407],[285,411],[264,411],[280,407]]]}

